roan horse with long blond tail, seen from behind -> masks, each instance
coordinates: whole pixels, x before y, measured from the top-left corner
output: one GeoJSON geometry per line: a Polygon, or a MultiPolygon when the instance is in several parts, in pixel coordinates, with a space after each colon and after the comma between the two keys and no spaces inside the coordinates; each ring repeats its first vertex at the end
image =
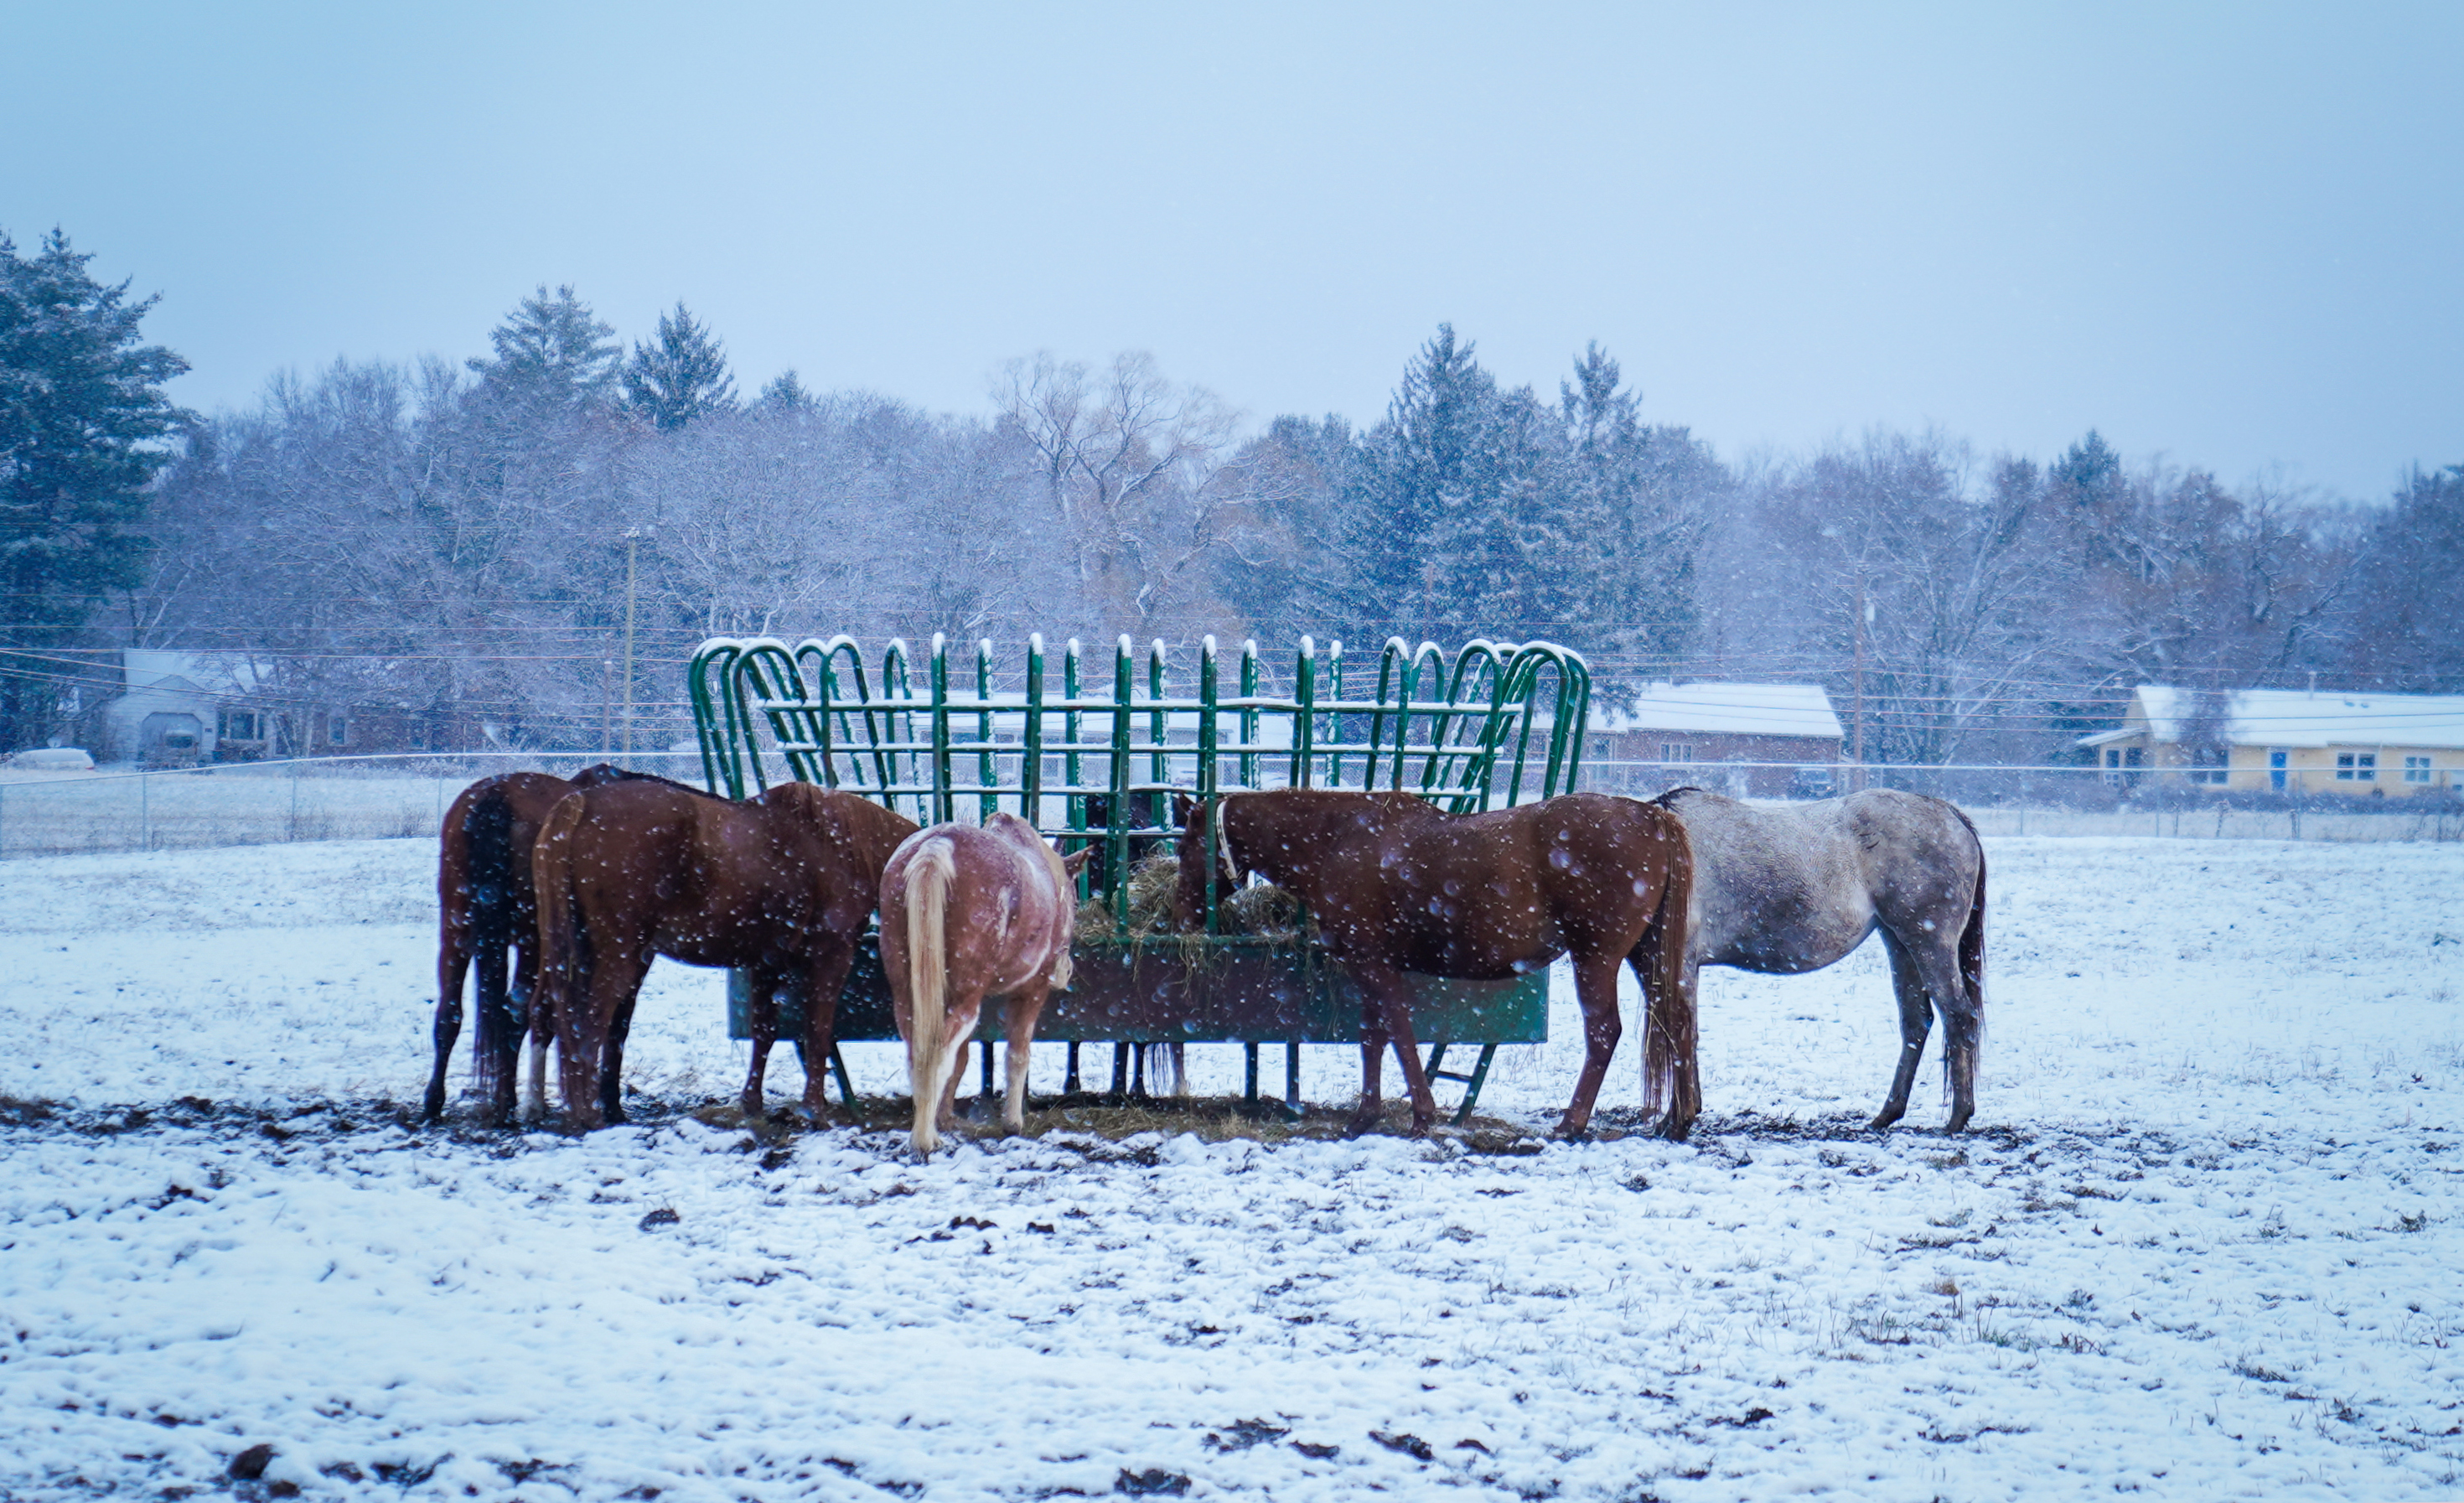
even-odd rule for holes
{"type": "Polygon", "coordinates": [[[914,1094],[909,1143],[941,1146],[958,1094],[958,1062],[983,998],[1008,998],[1003,1025],[1010,1089],[1000,1121],[1027,1126],[1027,1055],[1035,1018],[1069,986],[1077,919],[1072,877],[1087,853],[1060,857],[1035,825],[995,813],[983,825],[934,825],[909,835],[882,872],[882,971],[907,1040],[914,1094]]]}

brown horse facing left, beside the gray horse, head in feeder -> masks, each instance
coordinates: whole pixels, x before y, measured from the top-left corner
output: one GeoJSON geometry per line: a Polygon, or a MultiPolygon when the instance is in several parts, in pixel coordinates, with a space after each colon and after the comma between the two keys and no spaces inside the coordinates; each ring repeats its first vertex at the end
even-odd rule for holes
{"type": "MultiPolygon", "coordinates": [[[[1205,902],[1207,816],[1193,803],[1180,830],[1180,924],[1205,902]]],[[[1360,1109],[1377,1121],[1387,1040],[1412,1089],[1412,1133],[1437,1119],[1412,1037],[1404,971],[1501,981],[1574,956],[1584,1064],[1560,1136],[1579,1136],[1609,1072],[1621,1025],[1616,968],[1634,966],[1648,1005],[1646,1109],[1683,1138],[1703,1111],[1695,1010],[1683,986],[1693,853],[1663,808],[1567,793],[1496,813],[1444,813],[1414,793],[1274,788],[1212,801],[1222,870],[1262,872],[1308,904],[1328,954],[1360,986],[1360,1109]]]]}

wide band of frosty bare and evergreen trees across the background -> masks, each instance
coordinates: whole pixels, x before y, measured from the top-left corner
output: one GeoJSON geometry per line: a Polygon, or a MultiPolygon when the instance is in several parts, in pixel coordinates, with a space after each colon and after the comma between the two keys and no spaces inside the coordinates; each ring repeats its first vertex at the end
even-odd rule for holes
{"type": "Polygon", "coordinates": [[[1244,426],[1138,352],[1015,360],[951,416],[796,372],[747,397],[685,306],[626,347],[569,286],[458,365],[200,416],[150,301],[86,264],[0,239],[0,747],[62,734],[116,646],[515,747],[599,744],[626,700],[678,734],[719,633],[1545,636],[1609,697],[1823,683],[1878,761],[2057,759],[2149,680],[2464,692],[2464,466],[2346,505],[2094,431],[1725,458],[1597,345],[1538,392],[1449,325],[1368,426],[1244,426]]]}

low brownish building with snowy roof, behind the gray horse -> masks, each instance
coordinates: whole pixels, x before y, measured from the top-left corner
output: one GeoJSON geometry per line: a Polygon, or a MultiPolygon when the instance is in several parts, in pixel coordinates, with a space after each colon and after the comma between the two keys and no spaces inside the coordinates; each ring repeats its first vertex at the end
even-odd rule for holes
{"type": "Polygon", "coordinates": [[[1703,784],[1749,798],[1826,796],[1843,734],[1831,695],[1814,683],[1656,683],[1621,707],[1592,702],[1582,744],[1592,776],[1584,781],[1629,791],[1703,784]],[[1693,764],[1747,766],[1695,771],[1693,764]]]}

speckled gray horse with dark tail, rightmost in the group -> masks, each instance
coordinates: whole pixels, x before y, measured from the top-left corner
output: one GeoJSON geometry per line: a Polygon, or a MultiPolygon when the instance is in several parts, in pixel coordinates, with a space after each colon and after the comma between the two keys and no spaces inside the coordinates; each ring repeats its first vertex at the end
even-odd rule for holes
{"type": "Polygon", "coordinates": [[[1900,993],[1900,1069],[1873,1126],[1907,1114],[1934,1008],[1949,1035],[1947,1131],[1969,1126],[1986,1032],[1986,853],[1969,816],[1892,788],[1786,808],[1671,788],[1653,803],[1676,811],[1693,840],[1685,991],[1703,966],[1821,971],[1880,929],[1900,993]]]}

